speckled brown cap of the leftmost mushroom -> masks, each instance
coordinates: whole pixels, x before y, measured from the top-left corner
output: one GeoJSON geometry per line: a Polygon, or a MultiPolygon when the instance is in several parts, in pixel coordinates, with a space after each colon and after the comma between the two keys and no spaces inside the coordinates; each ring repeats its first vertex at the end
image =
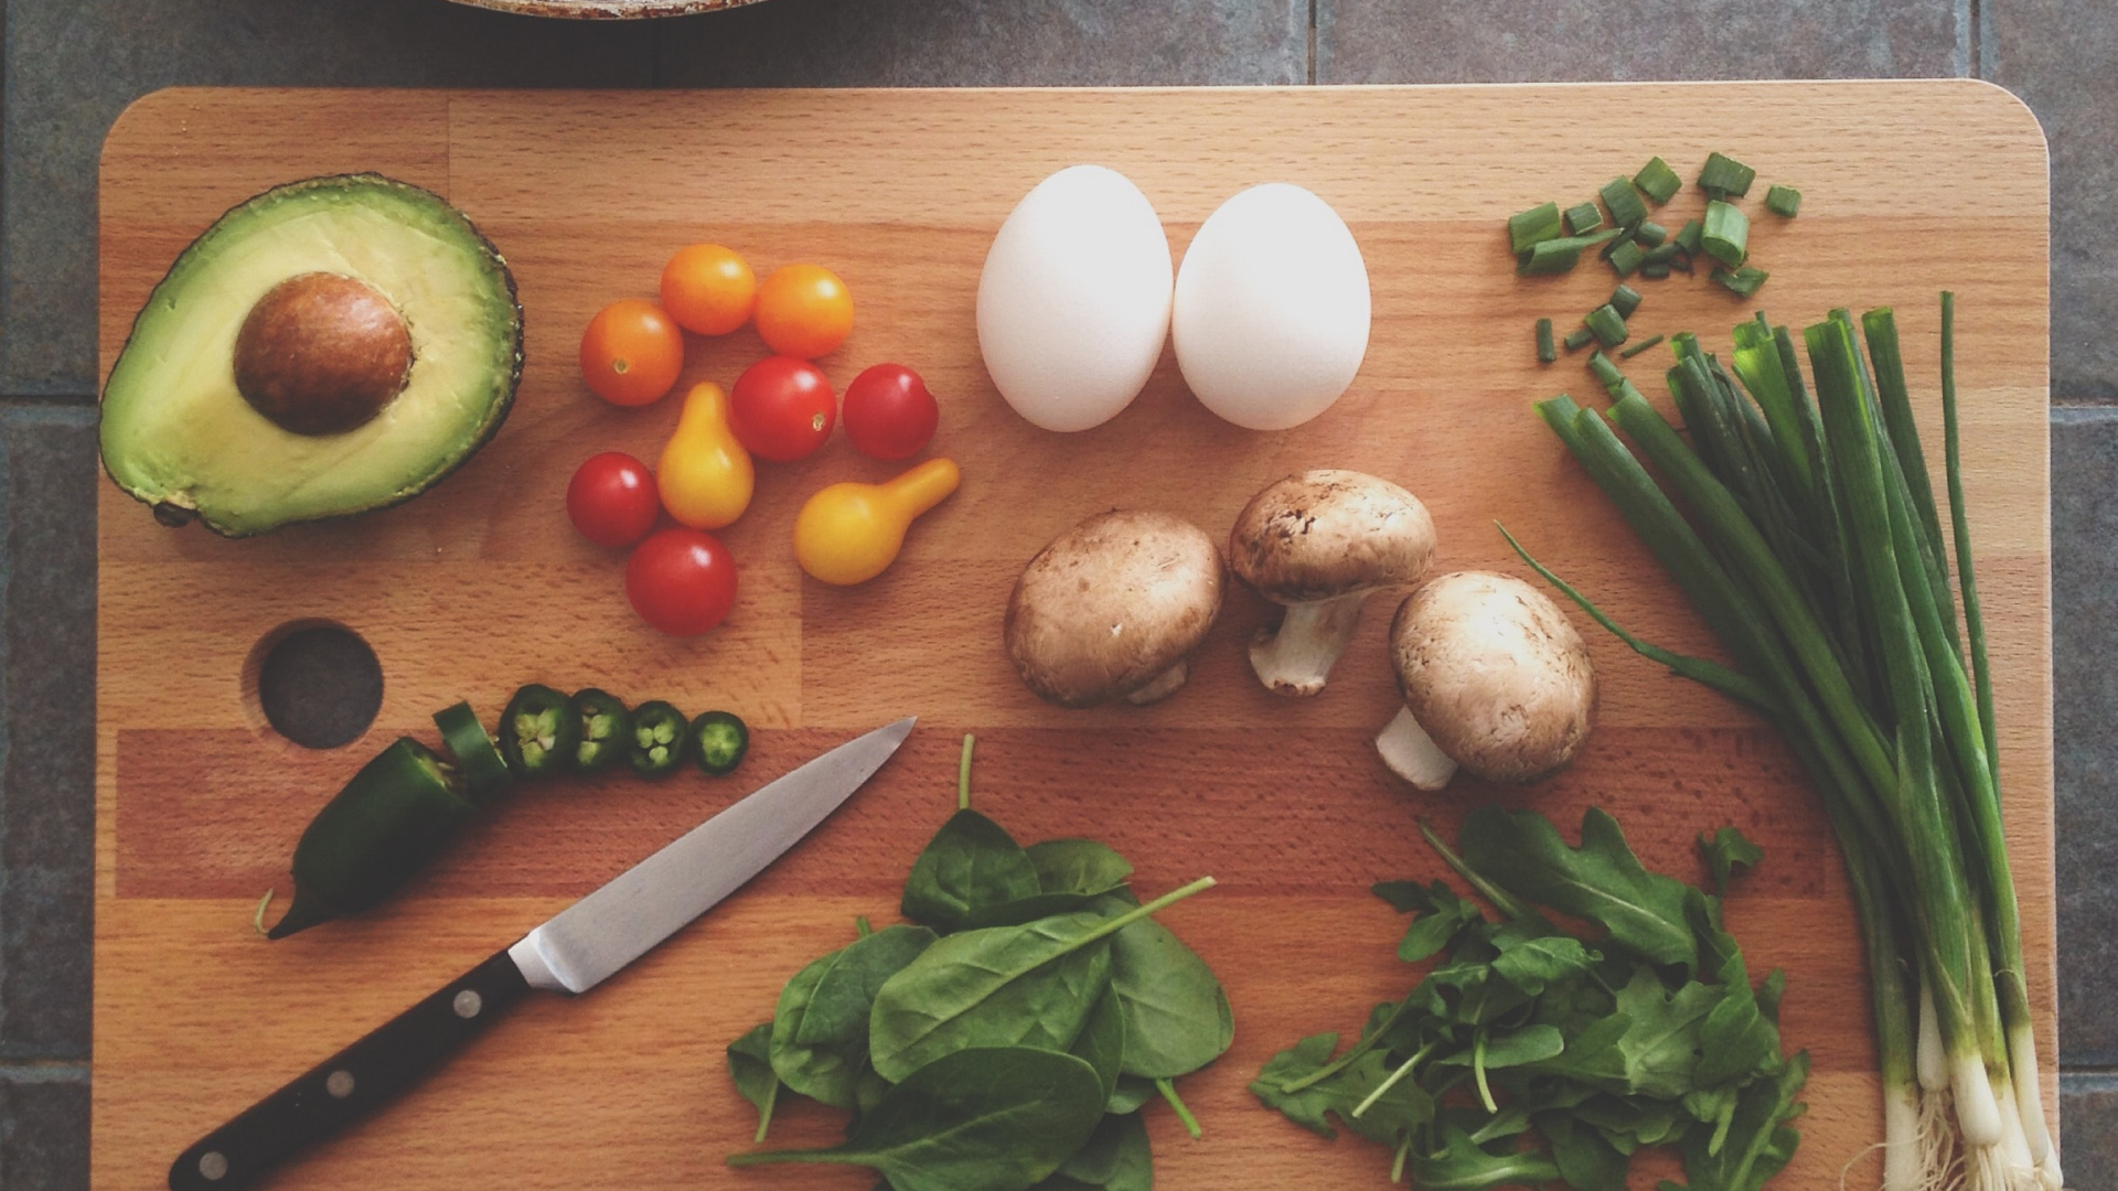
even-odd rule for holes
{"type": "Polygon", "coordinates": [[[1220,549],[1169,513],[1097,513],[1038,551],[1008,596],[1008,657],[1063,708],[1125,697],[1175,665],[1220,615],[1220,549]]]}

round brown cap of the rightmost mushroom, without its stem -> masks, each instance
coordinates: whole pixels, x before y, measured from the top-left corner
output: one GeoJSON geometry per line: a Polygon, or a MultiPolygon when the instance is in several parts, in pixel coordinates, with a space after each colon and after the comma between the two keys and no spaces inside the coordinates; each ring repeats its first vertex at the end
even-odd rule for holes
{"type": "Polygon", "coordinates": [[[1483,570],[1430,579],[1398,604],[1389,657],[1419,727],[1478,778],[1536,782],[1588,737],[1588,646],[1521,579],[1483,570]]]}

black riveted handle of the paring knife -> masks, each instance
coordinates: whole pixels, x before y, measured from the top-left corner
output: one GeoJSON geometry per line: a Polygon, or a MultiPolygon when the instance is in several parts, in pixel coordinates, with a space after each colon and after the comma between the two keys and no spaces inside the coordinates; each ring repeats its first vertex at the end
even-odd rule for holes
{"type": "Polygon", "coordinates": [[[297,1151],[417,1083],[525,992],[530,983],[500,952],[199,1138],[169,1166],[169,1191],[250,1187],[297,1151]]]}

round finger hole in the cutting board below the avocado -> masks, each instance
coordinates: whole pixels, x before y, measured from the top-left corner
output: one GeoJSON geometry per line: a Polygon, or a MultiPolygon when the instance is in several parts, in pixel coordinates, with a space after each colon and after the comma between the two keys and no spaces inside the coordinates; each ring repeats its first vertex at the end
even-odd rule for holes
{"type": "Polygon", "coordinates": [[[354,629],[292,621],[258,638],[244,693],[273,731],[303,748],[352,744],[383,706],[383,668],[354,629]]]}

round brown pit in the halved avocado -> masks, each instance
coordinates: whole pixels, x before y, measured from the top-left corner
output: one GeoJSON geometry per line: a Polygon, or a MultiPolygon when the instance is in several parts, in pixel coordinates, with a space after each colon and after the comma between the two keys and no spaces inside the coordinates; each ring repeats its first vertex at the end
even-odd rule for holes
{"type": "Polygon", "coordinates": [[[411,375],[411,331],[375,286],[299,273],[265,292],[235,335],[235,390],[294,434],[343,434],[411,375]]]}

